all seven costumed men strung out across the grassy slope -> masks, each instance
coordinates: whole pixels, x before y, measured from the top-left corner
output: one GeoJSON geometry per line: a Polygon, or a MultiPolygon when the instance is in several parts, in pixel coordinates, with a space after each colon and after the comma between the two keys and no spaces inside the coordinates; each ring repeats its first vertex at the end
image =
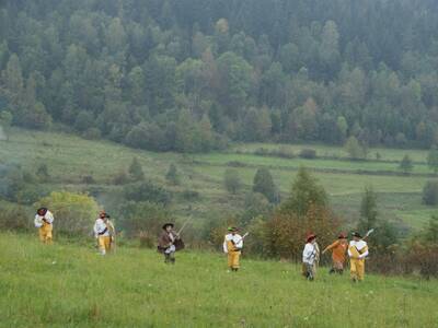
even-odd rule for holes
{"type": "MultiPolygon", "coordinates": [[[[39,231],[39,239],[44,244],[53,243],[54,215],[47,208],[39,208],[35,215],[35,226],[39,231]]],[[[175,232],[173,223],[162,226],[162,234],[158,243],[158,251],[164,255],[165,263],[175,263],[175,253],[183,249],[184,242],[180,233],[175,232]]],[[[115,247],[115,227],[110,215],[105,211],[99,213],[95,220],[93,233],[97,242],[99,251],[106,255],[115,247]]],[[[243,241],[247,234],[241,236],[235,226],[228,227],[228,234],[223,241],[223,253],[228,255],[228,267],[230,272],[237,272],[240,268],[240,257],[243,241]]],[[[368,245],[359,233],[353,233],[353,241],[348,243],[345,234],[339,234],[337,241],[324,248],[322,254],[332,251],[332,268],[330,273],[343,273],[346,266],[347,255],[350,263],[350,276],[353,281],[362,281],[365,274],[365,259],[368,256],[368,245]]],[[[320,247],[316,235],[311,234],[302,251],[302,272],[308,280],[315,278],[320,261],[320,247]]]]}

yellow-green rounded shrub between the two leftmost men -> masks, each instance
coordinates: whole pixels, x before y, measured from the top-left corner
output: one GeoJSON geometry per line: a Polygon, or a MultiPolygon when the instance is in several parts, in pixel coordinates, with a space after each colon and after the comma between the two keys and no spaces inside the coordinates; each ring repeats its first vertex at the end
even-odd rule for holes
{"type": "Polygon", "coordinates": [[[55,216],[55,231],[68,235],[88,235],[99,212],[94,198],[67,191],[51,192],[34,207],[48,208],[55,216]]]}

